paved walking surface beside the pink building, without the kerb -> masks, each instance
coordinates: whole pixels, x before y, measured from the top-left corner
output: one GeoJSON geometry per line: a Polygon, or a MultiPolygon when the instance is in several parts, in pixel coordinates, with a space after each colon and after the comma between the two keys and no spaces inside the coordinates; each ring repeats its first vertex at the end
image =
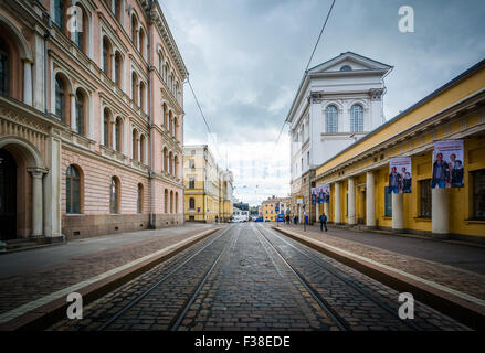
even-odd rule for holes
{"type": "Polygon", "coordinates": [[[2,255],[0,319],[15,308],[217,228],[215,225],[188,224],[2,255]]]}

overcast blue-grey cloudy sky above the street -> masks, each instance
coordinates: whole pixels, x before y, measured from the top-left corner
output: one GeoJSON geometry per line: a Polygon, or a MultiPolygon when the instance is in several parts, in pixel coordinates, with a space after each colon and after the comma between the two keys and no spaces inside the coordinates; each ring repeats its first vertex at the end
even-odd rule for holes
{"type": "MultiPolygon", "coordinates": [[[[160,0],[218,148],[188,85],[184,143],[209,143],[256,205],[289,193],[287,127],[275,141],[331,0],[160,0]]],[[[387,119],[485,58],[483,0],[337,0],[312,66],[352,51],[394,66],[387,119]],[[398,29],[414,10],[414,33],[398,29]]]]}

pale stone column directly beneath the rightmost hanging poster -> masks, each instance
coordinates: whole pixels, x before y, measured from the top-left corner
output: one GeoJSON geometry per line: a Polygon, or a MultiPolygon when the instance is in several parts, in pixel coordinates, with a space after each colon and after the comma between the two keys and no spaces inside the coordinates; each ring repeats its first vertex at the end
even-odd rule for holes
{"type": "Polygon", "coordinates": [[[450,233],[447,190],[431,189],[431,232],[434,238],[447,238],[450,233]]]}

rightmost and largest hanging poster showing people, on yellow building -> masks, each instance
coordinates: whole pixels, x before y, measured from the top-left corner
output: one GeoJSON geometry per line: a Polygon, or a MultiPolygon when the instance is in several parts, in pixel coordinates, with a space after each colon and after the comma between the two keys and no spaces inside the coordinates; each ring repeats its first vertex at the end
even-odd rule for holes
{"type": "Polygon", "coordinates": [[[465,185],[463,165],[463,140],[434,142],[431,188],[463,188],[465,185]]]}

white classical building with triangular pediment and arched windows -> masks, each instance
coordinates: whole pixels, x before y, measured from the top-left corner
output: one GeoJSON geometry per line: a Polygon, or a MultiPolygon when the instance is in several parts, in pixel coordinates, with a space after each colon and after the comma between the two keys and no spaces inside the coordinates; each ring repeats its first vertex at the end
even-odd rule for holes
{"type": "MultiPolygon", "coordinates": [[[[308,194],[309,169],[386,121],[383,79],[391,69],[392,66],[347,52],[305,73],[286,117],[292,141],[292,199],[308,194]]],[[[294,211],[302,213],[299,206],[294,211]]]]}

